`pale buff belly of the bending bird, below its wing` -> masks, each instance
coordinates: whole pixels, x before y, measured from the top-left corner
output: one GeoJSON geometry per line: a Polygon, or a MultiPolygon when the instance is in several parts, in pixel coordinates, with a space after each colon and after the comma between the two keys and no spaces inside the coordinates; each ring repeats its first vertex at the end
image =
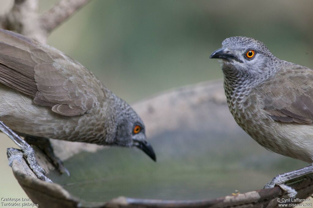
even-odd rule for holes
{"type": "MultiPolygon", "coordinates": [[[[0,117],[14,131],[64,140],[71,140],[74,129],[68,126],[77,119],[60,119],[49,107],[35,105],[30,97],[3,84],[0,84],[0,117]]],[[[73,135],[73,139],[74,136],[77,137],[73,135]]]]}

